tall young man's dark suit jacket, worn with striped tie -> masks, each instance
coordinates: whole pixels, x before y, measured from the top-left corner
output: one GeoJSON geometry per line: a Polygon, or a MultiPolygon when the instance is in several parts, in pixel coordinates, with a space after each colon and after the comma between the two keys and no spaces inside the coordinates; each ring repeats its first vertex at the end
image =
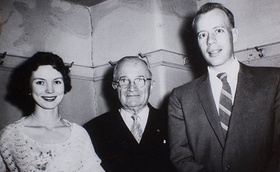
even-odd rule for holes
{"type": "Polygon", "coordinates": [[[169,99],[171,160],[180,171],[278,171],[279,68],[240,63],[226,140],[208,73],[169,99]]]}

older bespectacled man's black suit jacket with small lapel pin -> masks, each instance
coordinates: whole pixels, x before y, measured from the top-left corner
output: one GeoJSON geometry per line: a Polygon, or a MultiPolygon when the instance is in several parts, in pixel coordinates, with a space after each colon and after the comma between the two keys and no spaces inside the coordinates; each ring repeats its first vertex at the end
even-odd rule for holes
{"type": "Polygon", "coordinates": [[[166,142],[166,115],[149,105],[150,112],[140,144],[127,128],[119,111],[88,122],[94,149],[106,171],[174,171],[166,142]]]}

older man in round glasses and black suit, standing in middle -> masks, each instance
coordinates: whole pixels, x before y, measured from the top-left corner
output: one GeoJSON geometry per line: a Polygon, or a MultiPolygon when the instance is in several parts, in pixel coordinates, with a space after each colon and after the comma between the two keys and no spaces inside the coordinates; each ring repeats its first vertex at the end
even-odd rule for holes
{"type": "Polygon", "coordinates": [[[154,86],[148,63],[123,57],[114,69],[113,88],[121,108],[88,122],[95,151],[106,171],[174,171],[166,145],[166,116],[148,99],[154,86]]]}

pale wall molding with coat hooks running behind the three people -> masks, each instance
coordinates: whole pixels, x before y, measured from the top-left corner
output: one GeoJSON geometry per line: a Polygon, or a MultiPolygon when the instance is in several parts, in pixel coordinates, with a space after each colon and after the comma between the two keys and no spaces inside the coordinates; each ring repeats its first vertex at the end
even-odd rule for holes
{"type": "MultiPolygon", "coordinates": [[[[258,48],[263,49],[263,57],[259,56],[260,52],[258,52],[255,47],[235,51],[235,56],[239,61],[245,64],[260,63],[266,60],[280,58],[280,42],[261,45],[258,46],[258,48]]],[[[185,54],[159,49],[152,52],[147,52],[143,55],[148,57],[151,68],[157,66],[167,66],[179,68],[181,70],[195,71],[191,64],[186,63],[186,60],[191,59],[191,57],[188,57],[188,55],[185,54]]],[[[0,71],[12,72],[16,66],[18,66],[27,58],[29,57],[7,54],[5,58],[0,59],[4,61],[3,65],[0,65],[0,71]]],[[[69,63],[65,64],[70,65],[69,63]]],[[[74,63],[70,68],[70,77],[72,79],[86,81],[105,80],[110,77],[107,75],[107,73],[109,70],[113,70],[113,68],[114,66],[111,66],[109,63],[93,67],[74,63]]]]}

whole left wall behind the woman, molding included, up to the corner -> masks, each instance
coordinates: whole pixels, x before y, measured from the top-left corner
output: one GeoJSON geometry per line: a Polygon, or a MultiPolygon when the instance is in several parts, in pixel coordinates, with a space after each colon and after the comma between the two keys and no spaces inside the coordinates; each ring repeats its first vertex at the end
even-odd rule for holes
{"type": "Polygon", "coordinates": [[[6,101],[13,68],[38,51],[58,54],[71,68],[72,90],[60,107],[61,115],[83,124],[93,117],[95,90],[89,9],[60,0],[1,0],[0,53],[7,52],[0,66],[0,128],[22,117],[6,101]]]}

